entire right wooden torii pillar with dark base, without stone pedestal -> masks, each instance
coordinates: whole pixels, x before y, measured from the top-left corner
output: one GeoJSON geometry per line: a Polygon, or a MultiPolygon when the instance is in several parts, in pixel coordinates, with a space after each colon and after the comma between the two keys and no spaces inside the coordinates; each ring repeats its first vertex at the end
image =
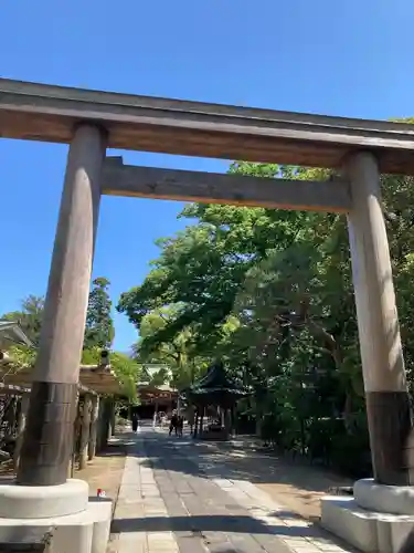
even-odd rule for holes
{"type": "Polygon", "coordinates": [[[413,483],[405,448],[412,430],[378,163],[370,153],[346,165],[351,182],[348,216],[358,328],[374,478],[413,483]]]}

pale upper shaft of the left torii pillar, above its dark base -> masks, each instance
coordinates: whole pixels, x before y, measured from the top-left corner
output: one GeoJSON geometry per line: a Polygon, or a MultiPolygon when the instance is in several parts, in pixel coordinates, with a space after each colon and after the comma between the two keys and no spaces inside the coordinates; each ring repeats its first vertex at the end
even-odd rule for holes
{"type": "Polygon", "coordinates": [[[79,126],[67,158],[33,380],[79,378],[104,157],[100,129],[79,126]]]}

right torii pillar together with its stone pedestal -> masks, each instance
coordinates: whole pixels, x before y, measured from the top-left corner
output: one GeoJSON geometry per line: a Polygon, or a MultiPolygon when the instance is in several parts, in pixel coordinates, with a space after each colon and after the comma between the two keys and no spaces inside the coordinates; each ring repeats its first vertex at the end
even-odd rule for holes
{"type": "Polygon", "coordinates": [[[352,498],[322,498],[321,525],[367,553],[411,553],[413,425],[378,160],[370,152],[354,153],[344,174],[373,478],[358,480],[352,498]]]}

